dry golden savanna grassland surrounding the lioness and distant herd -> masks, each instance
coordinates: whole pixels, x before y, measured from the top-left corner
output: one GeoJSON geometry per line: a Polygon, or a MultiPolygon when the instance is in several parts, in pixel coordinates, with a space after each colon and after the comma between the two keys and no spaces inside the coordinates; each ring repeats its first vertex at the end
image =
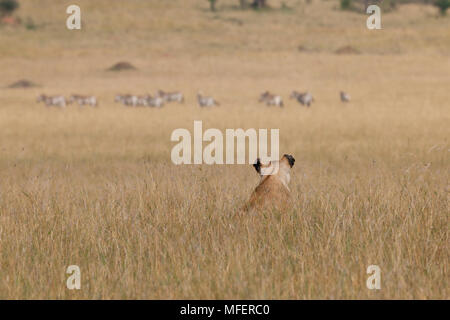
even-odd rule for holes
{"type": "Polygon", "coordinates": [[[450,17],[404,5],[370,31],[337,1],[284,2],[79,0],[69,31],[70,1],[20,1],[33,27],[0,27],[1,299],[449,298],[450,17]],[[138,69],[105,71],[118,61],[138,69]],[[6,88],[22,78],[40,87],[6,88]],[[186,102],[113,101],[159,88],[186,102]],[[283,109],[257,102],[266,89],[283,109]],[[200,109],[197,90],[221,106],[200,109]],[[41,93],[100,106],[46,108],[41,93]],[[250,165],[172,164],[170,135],[194,120],[279,128],[292,210],[235,215],[250,165]]]}

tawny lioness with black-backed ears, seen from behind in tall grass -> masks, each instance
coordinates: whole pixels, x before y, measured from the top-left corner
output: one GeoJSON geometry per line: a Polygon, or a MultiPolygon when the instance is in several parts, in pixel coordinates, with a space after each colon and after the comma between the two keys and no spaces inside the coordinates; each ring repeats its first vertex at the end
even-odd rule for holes
{"type": "Polygon", "coordinates": [[[291,204],[289,181],[290,171],[294,166],[295,159],[285,154],[279,161],[272,161],[267,165],[256,160],[253,167],[261,177],[261,180],[250,196],[249,202],[244,207],[246,212],[261,210],[285,211],[291,204]],[[276,168],[278,167],[278,170],[276,168]]]}

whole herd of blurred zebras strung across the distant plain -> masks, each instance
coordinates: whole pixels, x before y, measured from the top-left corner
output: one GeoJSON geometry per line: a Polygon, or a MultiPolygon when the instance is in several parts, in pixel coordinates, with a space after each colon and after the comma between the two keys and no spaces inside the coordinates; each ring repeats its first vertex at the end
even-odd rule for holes
{"type": "MultiPolygon", "coordinates": [[[[310,107],[314,102],[314,98],[309,92],[298,92],[296,90],[292,91],[289,96],[290,99],[297,100],[303,106],[310,107]]],[[[350,101],[350,95],[341,91],[340,92],[341,101],[346,103],[350,101]]],[[[162,108],[164,104],[170,102],[178,102],[184,103],[184,95],[181,92],[165,92],[162,90],[158,90],[156,95],[153,97],[149,94],[147,95],[131,95],[131,94],[119,94],[114,98],[116,103],[122,103],[127,107],[155,107],[162,108]]],[[[65,108],[69,104],[76,103],[79,106],[91,106],[97,107],[98,101],[95,96],[82,96],[73,94],[66,100],[64,96],[47,96],[45,94],[40,95],[37,98],[37,102],[44,102],[44,104],[48,107],[55,106],[60,108],[65,108]]],[[[258,102],[265,103],[267,106],[277,106],[283,107],[283,99],[281,96],[272,94],[269,91],[263,92],[258,102]]],[[[197,103],[200,107],[214,107],[220,106],[220,103],[214,99],[213,97],[208,97],[202,95],[200,92],[197,93],[197,103]]]]}

